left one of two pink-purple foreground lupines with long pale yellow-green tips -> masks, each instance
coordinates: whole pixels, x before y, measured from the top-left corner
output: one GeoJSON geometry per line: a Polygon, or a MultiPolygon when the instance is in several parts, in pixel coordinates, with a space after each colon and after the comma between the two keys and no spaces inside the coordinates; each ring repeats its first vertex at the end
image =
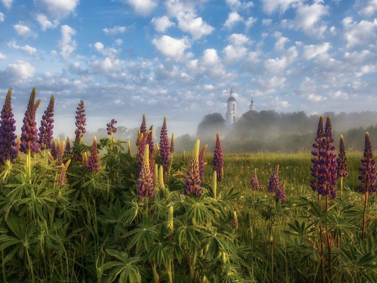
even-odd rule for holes
{"type": "Polygon", "coordinates": [[[149,145],[146,145],[144,149],[143,166],[138,178],[138,195],[141,200],[146,197],[154,197],[153,179],[149,169],[149,145]]]}

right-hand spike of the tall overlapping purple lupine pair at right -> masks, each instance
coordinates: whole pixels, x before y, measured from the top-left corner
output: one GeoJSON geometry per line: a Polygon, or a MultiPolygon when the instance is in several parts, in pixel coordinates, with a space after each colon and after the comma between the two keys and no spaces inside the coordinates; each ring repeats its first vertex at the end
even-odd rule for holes
{"type": "Polygon", "coordinates": [[[320,160],[318,167],[318,192],[322,197],[330,195],[331,198],[336,198],[334,187],[337,184],[337,171],[336,171],[336,154],[334,150],[336,146],[333,145],[334,137],[331,132],[331,117],[326,119],[325,134],[321,143],[321,150],[319,151],[320,160]]]}

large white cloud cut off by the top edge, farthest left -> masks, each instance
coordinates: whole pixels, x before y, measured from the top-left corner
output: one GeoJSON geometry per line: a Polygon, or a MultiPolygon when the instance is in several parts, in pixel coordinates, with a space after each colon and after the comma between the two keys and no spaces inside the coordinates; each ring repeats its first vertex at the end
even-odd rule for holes
{"type": "Polygon", "coordinates": [[[37,0],[47,13],[54,18],[61,19],[73,13],[79,0],[37,0]]]}

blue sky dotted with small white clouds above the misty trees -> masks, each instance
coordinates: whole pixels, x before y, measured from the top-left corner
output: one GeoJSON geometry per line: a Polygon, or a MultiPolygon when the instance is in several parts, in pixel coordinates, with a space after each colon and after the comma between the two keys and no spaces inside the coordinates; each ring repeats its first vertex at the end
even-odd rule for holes
{"type": "MultiPolygon", "coordinates": [[[[43,114],[55,95],[55,133],[115,118],[195,133],[256,110],[376,110],[376,0],[0,0],[0,93],[13,89],[20,129],[31,89],[43,114]]],[[[39,119],[39,118],[38,118],[39,119]]],[[[73,135],[73,134],[72,134],[73,135]]]]}

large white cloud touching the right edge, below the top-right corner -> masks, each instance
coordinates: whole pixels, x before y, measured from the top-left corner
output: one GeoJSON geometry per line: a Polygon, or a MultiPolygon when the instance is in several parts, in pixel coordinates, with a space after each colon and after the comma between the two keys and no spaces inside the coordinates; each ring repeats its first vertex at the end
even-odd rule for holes
{"type": "Polygon", "coordinates": [[[373,22],[368,20],[354,22],[352,17],[346,17],[343,19],[343,26],[345,29],[343,37],[347,40],[346,48],[365,45],[376,37],[377,19],[373,22]]]}

